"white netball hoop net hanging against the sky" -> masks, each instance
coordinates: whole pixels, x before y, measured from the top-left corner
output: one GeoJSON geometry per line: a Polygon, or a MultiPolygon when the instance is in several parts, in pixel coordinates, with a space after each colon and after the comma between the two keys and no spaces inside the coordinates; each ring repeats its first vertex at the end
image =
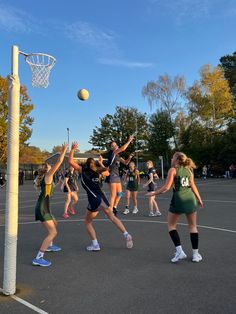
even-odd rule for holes
{"type": "Polygon", "coordinates": [[[32,71],[32,86],[47,88],[49,75],[56,59],[44,53],[32,53],[25,57],[32,71]]]}

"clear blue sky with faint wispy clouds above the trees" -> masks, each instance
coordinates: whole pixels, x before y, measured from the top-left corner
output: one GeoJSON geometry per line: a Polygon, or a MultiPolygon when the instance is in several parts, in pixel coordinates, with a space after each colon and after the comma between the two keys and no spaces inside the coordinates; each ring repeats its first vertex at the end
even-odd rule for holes
{"type": "Polygon", "coordinates": [[[51,150],[78,140],[115,106],[152,113],[141,95],[159,75],[184,75],[188,85],[204,64],[236,50],[235,0],[0,0],[0,75],[11,69],[11,46],[53,55],[47,89],[31,87],[20,56],[19,76],[35,104],[30,145],[51,150]],[[90,99],[76,94],[87,88],[90,99]]]}

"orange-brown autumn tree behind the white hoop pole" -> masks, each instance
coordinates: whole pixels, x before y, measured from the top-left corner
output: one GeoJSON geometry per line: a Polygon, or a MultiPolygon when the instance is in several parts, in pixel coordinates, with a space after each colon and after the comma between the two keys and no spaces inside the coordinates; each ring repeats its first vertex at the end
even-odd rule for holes
{"type": "MultiPolygon", "coordinates": [[[[7,160],[7,124],[8,124],[8,81],[7,78],[0,76],[0,162],[6,163],[7,160]]],[[[31,137],[33,118],[29,116],[34,105],[28,96],[27,88],[20,88],[20,149],[31,137]]]]}

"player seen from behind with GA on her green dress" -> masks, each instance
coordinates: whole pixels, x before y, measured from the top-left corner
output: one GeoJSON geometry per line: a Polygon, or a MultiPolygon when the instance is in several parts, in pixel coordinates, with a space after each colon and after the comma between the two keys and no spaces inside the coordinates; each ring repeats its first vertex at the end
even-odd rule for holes
{"type": "Polygon", "coordinates": [[[171,259],[176,263],[187,256],[184,253],[178,231],[177,223],[181,214],[185,214],[188,221],[190,239],[193,249],[193,262],[200,262],[202,256],[198,253],[198,230],[197,230],[197,202],[202,207],[203,202],[194,182],[193,169],[196,165],[191,158],[184,153],[177,152],[171,160],[171,168],[165,184],[154,192],[147,193],[148,196],[165,193],[173,187],[173,196],[168,213],[168,230],[175,245],[175,256],[171,259]]]}

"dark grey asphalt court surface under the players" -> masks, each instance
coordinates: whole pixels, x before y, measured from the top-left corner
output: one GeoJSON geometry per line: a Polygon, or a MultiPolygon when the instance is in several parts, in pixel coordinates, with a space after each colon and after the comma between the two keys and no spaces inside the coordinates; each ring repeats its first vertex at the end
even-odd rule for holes
{"type": "MultiPolygon", "coordinates": [[[[78,214],[68,220],[61,217],[63,192],[57,189],[51,200],[58,220],[55,243],[62,251],[46,253],[52,266],[43,268],[31,265],[45,233],[34,221],[37,193],[32,181],[26,181],[19,194],[16,297],[20,299],[0,296],[0,313],[236,313],[236,180],[196,183],[204,201],[204,208],[198,211],[201,263],[191,262],[185,217],[178,230],[188,258],[170,263],[174,247],[166,217],[171,192],[157,199],[161,217],[148,217],[145,190],[139,192],[138,214],[119,213],[133,236],[132,250],[125,248],[122,235],[100,213],[95,228],[102,250],[86,252],[90,242],[83,223],[87,198],[80,188],[78,214]]],[[[5,188],[0,190],[1,283],[4,208],[5,188]]],[[[124,209],[124,199],[119,209],[124,209]]]]}

